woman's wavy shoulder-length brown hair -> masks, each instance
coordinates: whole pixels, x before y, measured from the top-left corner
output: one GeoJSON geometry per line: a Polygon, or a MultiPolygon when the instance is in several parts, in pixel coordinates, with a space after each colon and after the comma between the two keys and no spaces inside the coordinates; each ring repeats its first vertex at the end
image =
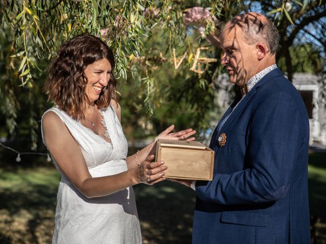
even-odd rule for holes
{"type": "MultiPolygon", "coordinates": [[[[89,101],[85,94],[88,82],[84,74],[86,67],[97,60],[106,58],[114,69],[114,55],[108,46],[99,38],[84,34],[64,43],[57,58],[49,67],[49,76],[44,85],[49,99],[74,118],[82,119],[89,101]]],[[[116,99],[117,81],[111,73],[110,81],[102,89],[95,104],[99,109],[110,105],[116,99]]]]}

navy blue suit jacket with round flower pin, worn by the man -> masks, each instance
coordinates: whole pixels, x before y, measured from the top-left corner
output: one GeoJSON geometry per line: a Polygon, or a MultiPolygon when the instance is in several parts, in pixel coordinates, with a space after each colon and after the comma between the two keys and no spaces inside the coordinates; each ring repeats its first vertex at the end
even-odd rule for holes
{"type": "Polygon", "coordinates": [[[270,71],[215,129],[213,180],[196,183],[193,243],[310,243],[308,145],[300,94],[270,71]]]}

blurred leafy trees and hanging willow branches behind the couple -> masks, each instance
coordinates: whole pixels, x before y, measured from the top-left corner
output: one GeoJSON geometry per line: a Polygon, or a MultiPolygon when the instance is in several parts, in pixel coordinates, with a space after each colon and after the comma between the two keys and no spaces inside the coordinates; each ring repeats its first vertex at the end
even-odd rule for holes
{"type": "Polygon", "coordinates": [[[170,124],[205,135],[221,114],[215,103],[223,73],[219,29],[247,11],[277,24],[278,65],[290,80],[296,71],[325,71],[321,0],[0,0],[0,137],[23,138],[32,149],[41,145],[40,118],[52,106],[42,92],[47,66],[63,42],[85,32],[115,52],[129,140],[170,124]]]}

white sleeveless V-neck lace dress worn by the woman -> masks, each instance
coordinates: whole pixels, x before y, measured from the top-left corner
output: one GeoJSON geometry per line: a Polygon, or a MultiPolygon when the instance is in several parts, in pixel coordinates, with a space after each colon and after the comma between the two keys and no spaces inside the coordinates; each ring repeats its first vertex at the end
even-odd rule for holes
{"type": "MultiPolygon", "coordinates": [[[[67,126],[82,150],[93,177],[127,170],[127,141],[111,105],[101,110],[100,114],[112,143],[108,143],[59,108],[53,107],[46,112],[48,111],[58,114],[67,126]]],[[[52,244],[142,243],[132,187],[108,196],[88,199],[71,184],[56,162],[55,165],[61,173],[61,182],[52,244]]]]}

